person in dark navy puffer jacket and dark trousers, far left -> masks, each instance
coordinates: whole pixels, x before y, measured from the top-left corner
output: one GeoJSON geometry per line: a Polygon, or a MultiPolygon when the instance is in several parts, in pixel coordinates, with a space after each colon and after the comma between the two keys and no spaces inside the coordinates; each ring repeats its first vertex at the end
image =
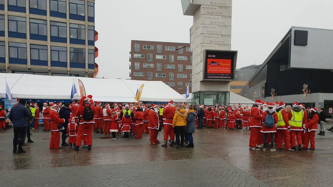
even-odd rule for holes
{"type": "Polygon", "coordinates": [[[13,153],[25,153],[22,149],[22,145],[25,140],[25,135],[27,134],[27,118],[30,119],[32,117],[29,109],[25,106],[26,103],[24,99],[20,99],[19,103],[12,107],[8,115],[8,118],[13,123],[14,130],[13,153]],[[17,144],[19,144],[18,149],[17,144]]]}

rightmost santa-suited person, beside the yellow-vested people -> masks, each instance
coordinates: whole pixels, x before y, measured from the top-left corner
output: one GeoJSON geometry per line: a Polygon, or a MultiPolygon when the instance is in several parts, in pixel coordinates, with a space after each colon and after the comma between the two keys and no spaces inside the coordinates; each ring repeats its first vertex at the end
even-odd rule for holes
{"type": "Polygon", "coordinates": [[[304,144],[303,148],[308,149],[309,141],[310,148],[309,150],[315,150],[315,135],[318,128],[318,120],[320,114],[318,113],[317,108],[313,107],[309,110],[309,116],[306,120],[306,124],[303,125],[304,133],[304,144]]]}

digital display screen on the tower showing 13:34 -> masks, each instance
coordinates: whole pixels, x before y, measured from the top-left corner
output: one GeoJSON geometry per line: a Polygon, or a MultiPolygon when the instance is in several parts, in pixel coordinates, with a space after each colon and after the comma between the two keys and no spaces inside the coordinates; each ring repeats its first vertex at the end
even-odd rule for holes
{"type": "Polygon", "coordinates": [[[209,51],[205,56],[205,80],[234,79],[234,51],[209,51]]]}

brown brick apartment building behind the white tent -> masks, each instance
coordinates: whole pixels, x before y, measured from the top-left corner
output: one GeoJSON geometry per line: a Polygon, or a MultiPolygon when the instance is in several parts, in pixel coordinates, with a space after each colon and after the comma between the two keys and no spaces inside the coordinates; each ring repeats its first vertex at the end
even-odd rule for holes
{"type": "Polygon", "coordinates": [[[132,40],[130,54],[132,80],[163,81],[179,94],[185,94],[189,86],[192,92],[189,44],[132,40]]]}

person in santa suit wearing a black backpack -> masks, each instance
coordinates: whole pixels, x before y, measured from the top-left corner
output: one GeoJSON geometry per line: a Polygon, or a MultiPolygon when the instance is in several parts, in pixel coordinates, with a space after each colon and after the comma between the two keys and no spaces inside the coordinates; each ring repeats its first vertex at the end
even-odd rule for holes
{"type": "Polygon", "coordinates": [[[88,150],[91,150],[91,146],[93,145],[92,133],[95,124],[94,114],[95,114],[94,105],[89,102],[87,96],[82,96],[80,99],[79,109],[76,111],[76,115],[82,117],[80,119],[78,136],[76,140],[76,147],[74,148],[74,150],[79,151],[79,148],[82,144],[83,134],[85,132],[87,133],[88,150]],[[84,114],[86,114],[86,116],[84,116],[84,114]]]}

